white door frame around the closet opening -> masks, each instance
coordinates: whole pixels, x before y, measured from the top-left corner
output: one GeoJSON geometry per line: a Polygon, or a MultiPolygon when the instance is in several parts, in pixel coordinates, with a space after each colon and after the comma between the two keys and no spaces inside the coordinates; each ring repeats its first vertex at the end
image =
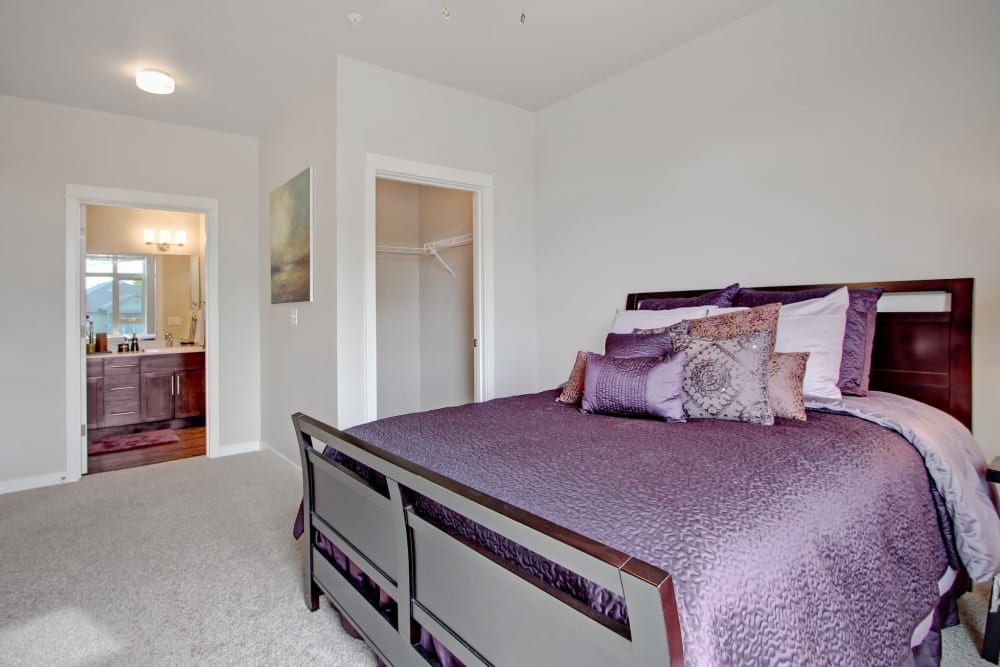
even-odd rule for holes
{"type": "Polygon", "coordinates": [[[365,421],[378,417],[378,338],[375,309],[375,180],[378,178],[432,185],[473,193],[472,290],[473,336],[476,339],[475,400],[488,401],[495,394],[493,340],[493,177],[473,171],[414,162],[369,153],[365,179],[364,256],[364,376],[365,421]]]}

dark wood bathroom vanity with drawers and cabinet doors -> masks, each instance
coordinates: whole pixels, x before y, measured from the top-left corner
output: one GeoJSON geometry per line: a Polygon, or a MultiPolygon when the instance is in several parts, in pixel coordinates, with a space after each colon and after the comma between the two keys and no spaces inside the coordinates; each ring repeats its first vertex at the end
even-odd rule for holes
{"type": "Polygon", "coordinates": [[[87,357],[87,435],[200,426],[205,351],[176,347],[87,357]]]}

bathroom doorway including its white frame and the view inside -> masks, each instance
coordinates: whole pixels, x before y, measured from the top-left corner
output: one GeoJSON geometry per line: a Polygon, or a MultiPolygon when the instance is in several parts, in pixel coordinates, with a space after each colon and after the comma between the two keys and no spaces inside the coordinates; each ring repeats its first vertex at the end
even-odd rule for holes
{"type": "Polygon", "coordinates": [[[217,209],[67,186],[66,481],[217,455],[217,209]]]}

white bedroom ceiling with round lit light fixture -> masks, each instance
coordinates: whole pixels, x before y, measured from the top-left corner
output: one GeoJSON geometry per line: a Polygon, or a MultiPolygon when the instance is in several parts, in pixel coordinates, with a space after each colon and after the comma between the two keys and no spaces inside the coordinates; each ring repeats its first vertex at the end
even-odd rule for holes
{"type": "Polygon", "coordinates": [[[339,53],[539,109],[772,1],[0,0],[0,94],[257,135],[339,53]]]}

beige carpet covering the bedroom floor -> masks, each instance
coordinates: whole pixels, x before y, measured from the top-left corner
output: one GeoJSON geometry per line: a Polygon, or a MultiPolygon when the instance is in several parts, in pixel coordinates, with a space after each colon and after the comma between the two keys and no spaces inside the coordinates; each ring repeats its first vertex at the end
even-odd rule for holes
{"type": "MultiPolygon", "coordinates": [[[[302,602],[300,494],[298,471],[261,452],[0,496],[0,663],[374,665],[302,602]]],[[[944,665],[989,664],[987,594],[962,599],[944,665]]]]}

